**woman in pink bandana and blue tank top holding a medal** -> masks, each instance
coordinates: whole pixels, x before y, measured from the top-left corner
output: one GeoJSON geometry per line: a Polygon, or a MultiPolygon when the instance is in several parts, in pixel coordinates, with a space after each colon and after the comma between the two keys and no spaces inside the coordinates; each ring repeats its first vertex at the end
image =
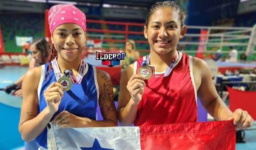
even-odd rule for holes
{"type": "Polygon", "coordinates": [[[53,46],[48,62],[27,72],[22,85],[19,132],[47,148],[47,129],[116,126],[110,76],[83,62],[86,17],[74,5],[51,7],[48,13],[53,46]],[[58,81],[58,82],[57,82],[58,81]],[[97,103],[103,116],[96,121],[97,103]]]}

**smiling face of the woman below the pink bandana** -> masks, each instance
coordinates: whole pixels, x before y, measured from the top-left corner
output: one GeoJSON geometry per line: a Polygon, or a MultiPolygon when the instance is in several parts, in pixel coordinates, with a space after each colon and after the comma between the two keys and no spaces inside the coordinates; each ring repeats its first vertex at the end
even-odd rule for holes
{"type": "Polygon", "coordinates": [[[58,58],[73,61],[80,57],[85,47],[85,32],[77,24],[65,23],[56,27],[52,34],[52,42],[58,52],[58,58]]]}

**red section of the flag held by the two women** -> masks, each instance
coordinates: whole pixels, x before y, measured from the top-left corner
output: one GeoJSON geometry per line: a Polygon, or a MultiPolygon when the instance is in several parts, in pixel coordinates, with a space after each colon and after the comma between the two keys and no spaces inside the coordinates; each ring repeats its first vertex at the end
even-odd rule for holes
{"type": "Polygon", "coordinates": [[[141,150],[234,150],[233,121],[140,126],[141,150]]]}

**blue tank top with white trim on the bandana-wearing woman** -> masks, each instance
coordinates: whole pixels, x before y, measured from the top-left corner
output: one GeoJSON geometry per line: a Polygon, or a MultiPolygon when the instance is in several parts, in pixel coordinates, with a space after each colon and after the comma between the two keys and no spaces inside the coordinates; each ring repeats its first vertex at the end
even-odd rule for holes
{"type": "MultiPolygon", "coordinates": [[[[38,86],[39,113],[47,106],[44,99],[45,89],[54,81],[57,82],[53,69],[46,72],[49,62],[42,65],[41,78],[38,86]]],[[[81,84],[72,84],[69,91],[63,94],[59,109],[50,121],[60,112],[66,110],[79,117],[87,117],[96,120],[96,109],[99,99],[99,87],[96,75],[96,68],[85,62],[85,72],[81,84]]],[[[47,127],[36,138],[40,146],[47,148],[47,127]]]]}

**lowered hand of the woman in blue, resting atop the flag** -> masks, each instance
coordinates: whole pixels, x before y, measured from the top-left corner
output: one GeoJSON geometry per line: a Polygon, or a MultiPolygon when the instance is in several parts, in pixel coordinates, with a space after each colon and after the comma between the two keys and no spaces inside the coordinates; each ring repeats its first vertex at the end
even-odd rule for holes
{"type": "Polygon", "coordinates": [[[64,110],[53,119],[53,125],[58,124],[61,128],[83,127],[84,117],[78,117],[64,110]]]}

